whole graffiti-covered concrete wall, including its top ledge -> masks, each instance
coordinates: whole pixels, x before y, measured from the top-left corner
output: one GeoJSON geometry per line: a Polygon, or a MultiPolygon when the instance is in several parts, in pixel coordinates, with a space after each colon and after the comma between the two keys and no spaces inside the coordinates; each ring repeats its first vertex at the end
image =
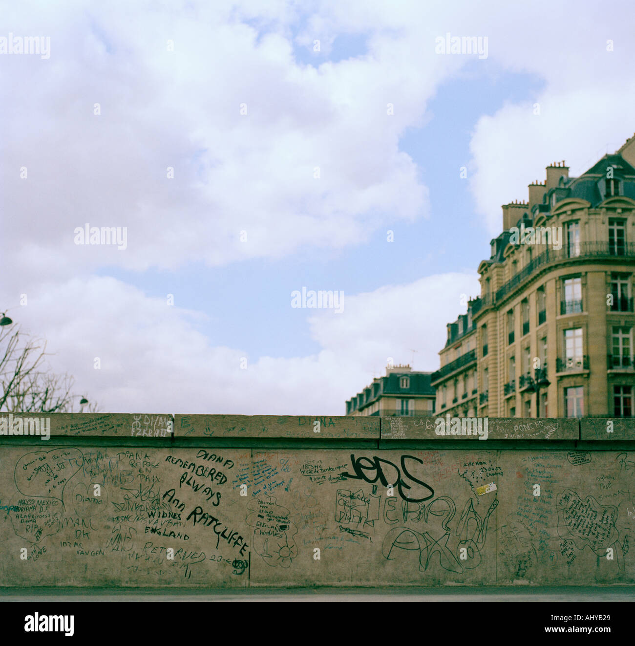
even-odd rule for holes
{"type": "Polygon", "coordinates": [[[634,420],[434,420],[51,415],[0,435],[0,585],[635,583],[634,420]]]}

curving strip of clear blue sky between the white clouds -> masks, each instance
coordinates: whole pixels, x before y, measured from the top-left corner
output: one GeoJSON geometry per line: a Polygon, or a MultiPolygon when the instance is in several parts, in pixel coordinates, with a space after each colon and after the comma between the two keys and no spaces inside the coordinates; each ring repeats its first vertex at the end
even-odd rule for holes
{"type": "MultiPolygon", "coordinates": [[[[303,48],[295,52],[298,61],[315,60],[311,54],[301,56],[303,48]]],[[[364,52],[362,36],[342,36],[328,58],[340,61],[364,52]]],[[[529,101],[541,85],[535,76],[500,72],[494,63],[479,61],[439,87],[428,105],[426,124],[408,128],[399,140],[399,148],[417,164],[421,182],[430,187],[433,216],[391,224],[399,244],[388,244],[388,229],[381,229],[368,241],[346,249],[322,253],[303,249],[280,260],[213,268],[188,264],[169,273],[104,267],[99,273],[139,287],[149,296],[178,294],[180,306],[208,315],[209,322],[200,326],[205,335],[219,344],[245,348],[250,357],[317,352],[319,345],[308,334],[306,310],[288,307],[294,289],[357,294],[439,272],[475,271],[488,257],[490,235],[475,213],[468,182],[459,169],[470,160],[470,135],[477,120],[494,114],[506,101],[529,101]],[[453,223],[452,231],[448,222],[453,223]],[[222,303],[231,303],[231,308],[219,306],[222,303]]],[[[509,200],[525,198],[510,195],[509,200]]],[[[464,312],[457,307],[459,313],[464,312]]],[[[404,360],[411,360],[411,355],[404,360]]]]}

